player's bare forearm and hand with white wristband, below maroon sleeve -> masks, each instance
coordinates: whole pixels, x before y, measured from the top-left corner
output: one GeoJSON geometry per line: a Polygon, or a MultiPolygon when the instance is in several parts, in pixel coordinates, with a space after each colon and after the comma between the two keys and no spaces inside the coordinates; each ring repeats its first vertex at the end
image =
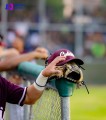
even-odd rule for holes
{"type": "Polygon", "coordinates": [[[55,68],[56,64],[63,60],[65,60],[65,57],[57,57],[40,73],[36,82],[27,88],[24,104],[34,104],[40,98],[45,89],[48,77],[53,74],[60,73],[60,71],[55,68]]]}

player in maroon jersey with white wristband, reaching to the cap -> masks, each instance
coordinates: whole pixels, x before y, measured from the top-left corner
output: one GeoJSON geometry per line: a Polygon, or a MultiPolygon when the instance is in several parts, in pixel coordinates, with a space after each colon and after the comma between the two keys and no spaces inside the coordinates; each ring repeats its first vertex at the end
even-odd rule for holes
{"type": "Polygon", "coordinates": [[[14,85],[0,76],[0,120],[4,120],[3,116],[6,102],[18,104],[20,106],[23,106],[24,104],[34,104],[41,97],[48,77],[53,74],[60,74],[60,71],[56,69],[56,64],[65,59],[65,56],[56,57],[44,70],[41,71],[36,82],[25,88],[14,85]]]}

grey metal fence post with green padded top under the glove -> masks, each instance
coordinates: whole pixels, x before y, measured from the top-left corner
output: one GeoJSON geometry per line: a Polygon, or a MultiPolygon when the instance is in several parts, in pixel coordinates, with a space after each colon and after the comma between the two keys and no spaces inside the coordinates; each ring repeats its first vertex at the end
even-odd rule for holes
{"type": "Polygon", "coordinates": [[[56,80],[56,88],[61,97],[61,120],[70,120],[70,96],[72,96],[75,84],[67,79],[56,80]]]}

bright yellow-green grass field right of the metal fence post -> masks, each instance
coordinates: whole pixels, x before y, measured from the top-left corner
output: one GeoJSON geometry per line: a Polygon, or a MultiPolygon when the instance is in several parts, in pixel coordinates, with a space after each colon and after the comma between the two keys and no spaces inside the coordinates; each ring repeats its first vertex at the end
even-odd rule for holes
{"type": "Polygon", "coordinates": [[[106,120],[106,86],[75,89],[71,99],[71,120],[106,120]]]}

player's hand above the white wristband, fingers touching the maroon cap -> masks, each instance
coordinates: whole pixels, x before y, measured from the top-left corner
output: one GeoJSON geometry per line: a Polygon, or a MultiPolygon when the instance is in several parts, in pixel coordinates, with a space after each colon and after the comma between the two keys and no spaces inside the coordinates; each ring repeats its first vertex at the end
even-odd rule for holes
{"type": "Polygon", "coordinates": [[[65,56],[59,56],[57,58],[55,58],[48,66],[46,66],[46,68],[42,71],[42,75],[45,77],[50,77],[54,74],[60,74],[60,70],[56,69],[56,64],[60,61],[64,61],[65,60],[65,56]]]}

